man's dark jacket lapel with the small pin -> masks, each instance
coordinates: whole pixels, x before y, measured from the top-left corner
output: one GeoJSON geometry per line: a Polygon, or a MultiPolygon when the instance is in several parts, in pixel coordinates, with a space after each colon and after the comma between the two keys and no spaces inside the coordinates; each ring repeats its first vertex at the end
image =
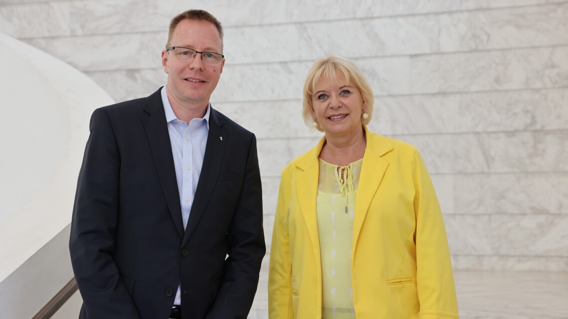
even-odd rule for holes
{"type": "Polygon", "coordinates": [[[187,220],[182,245],[185,245],[191,233],[193,233],[195,226],[197,226],[199,219],[201,219],[207,202],[213,192],[213,188],[215,187],[225,154],[225,145],[227,145],[226,143],[228,141],[227,131],[223,129],[224,124],[219,113],[211,108],[209,115],[209,133],[207,135],[207,146],[205,147],[203,166],[201,168],[201,175],[199,175],[199,182],[197,183],[193,204],[191,205],[189,219],[187,220]]]}

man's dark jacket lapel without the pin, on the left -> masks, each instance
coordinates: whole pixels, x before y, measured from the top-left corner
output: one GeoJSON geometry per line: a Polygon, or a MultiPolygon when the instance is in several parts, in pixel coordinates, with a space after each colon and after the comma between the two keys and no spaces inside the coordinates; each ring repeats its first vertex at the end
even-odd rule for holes
{"type": "Polygon", "coordinates": [[[164,191],[164,197],[170,215],[176,225],[179,237],[183,237],[183,222],[181,217],[181,204],[179,203],[179,191],[177,187],[176,168],[172,155],[172,144],[168,133],[168,123],[164,112],[164,104],[161,98],[161,89],[148,97],[148,104],[144,111],[148,116],[143,117],[144,129],[152,150],[154,163],[158,170],[158,177],[164,191]]]}

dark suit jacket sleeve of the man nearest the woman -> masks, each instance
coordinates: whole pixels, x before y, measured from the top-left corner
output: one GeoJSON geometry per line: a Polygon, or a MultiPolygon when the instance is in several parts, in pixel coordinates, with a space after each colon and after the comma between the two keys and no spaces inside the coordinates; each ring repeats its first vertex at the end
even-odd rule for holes
{"type": "Polygon", "coordinates": [[[256,138],[250,141],[243,186],[227,233],[228,258],[219,295],[207,319],[246,319],[266,254],[262,227],[262,186],[256,138]]]}

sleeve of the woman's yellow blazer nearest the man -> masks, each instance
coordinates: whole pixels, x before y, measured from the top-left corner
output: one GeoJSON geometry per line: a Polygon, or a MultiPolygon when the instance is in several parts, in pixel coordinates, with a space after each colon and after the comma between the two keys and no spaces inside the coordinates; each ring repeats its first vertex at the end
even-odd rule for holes
{"type": "Polygon", "coordinates": [[[272,244],[270,245],[268,271],[268,317],[270,319],[294,318],[291,287],[292,261],[286,221],[291,183],[288,177],[289,175],[283,173],[280,180],[272,244]]]}

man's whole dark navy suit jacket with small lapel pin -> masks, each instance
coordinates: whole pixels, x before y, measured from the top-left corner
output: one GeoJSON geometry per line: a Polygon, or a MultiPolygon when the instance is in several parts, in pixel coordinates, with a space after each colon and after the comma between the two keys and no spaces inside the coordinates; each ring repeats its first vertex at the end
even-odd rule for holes
{"type": "Polygon", "coordinates": [[[80,318],[246,318],[265,255],[256,138],[211,108],[183,230],[160,90],[95,110],[69,249],[80,318]]]}

